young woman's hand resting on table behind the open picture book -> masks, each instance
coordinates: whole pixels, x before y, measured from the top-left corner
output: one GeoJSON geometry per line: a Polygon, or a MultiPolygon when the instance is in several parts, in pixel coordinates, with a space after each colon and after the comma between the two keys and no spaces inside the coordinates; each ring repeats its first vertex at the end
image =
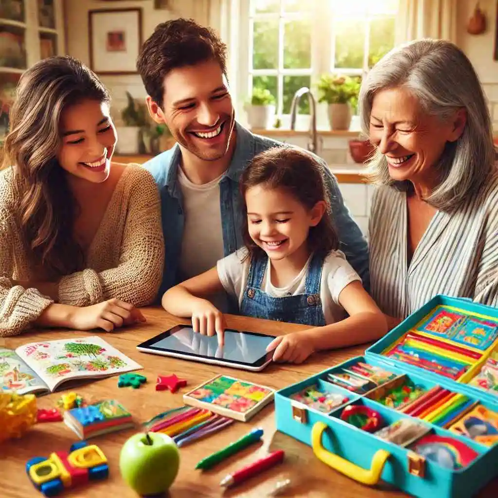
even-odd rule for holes
{"type": "Polygon", "coordinates": [[[140,310],[119,299],[109,299],[102,303],[75,308],[69,318],[70,326],[76,330],[104,329],[111,332],[123,325],[145,322],[140,310]]]}

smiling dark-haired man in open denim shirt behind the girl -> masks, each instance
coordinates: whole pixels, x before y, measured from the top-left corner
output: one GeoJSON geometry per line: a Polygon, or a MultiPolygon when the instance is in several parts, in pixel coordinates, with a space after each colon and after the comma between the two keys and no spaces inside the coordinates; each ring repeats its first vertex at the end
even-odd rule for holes
{"type": "MultiPolygon", "coordinates": [[[[226,46],[210,28],[181,18],[159,24],[142,45],[137,68],[151,117],[177,142],[145,164],[161,194],[161,295],[243,245],[240,175],[254,155],[281,144],[235,121],[226,46]]],[[[368,288],[367,243],[335,177],[327,183],[341,249],[368,288]]]]}

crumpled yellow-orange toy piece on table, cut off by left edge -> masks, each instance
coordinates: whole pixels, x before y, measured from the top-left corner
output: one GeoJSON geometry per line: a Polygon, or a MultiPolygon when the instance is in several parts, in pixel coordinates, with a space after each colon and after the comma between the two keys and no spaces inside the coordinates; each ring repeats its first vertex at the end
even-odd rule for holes
{"type": "Polygon", "coordinates": [[[34,394],[0,394],[0,443],[21,437],[36,422],[34,394]]]}

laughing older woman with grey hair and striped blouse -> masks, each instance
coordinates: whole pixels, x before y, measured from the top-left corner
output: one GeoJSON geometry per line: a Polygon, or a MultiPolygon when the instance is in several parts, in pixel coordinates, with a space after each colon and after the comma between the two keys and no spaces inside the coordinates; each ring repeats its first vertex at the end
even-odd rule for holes
{"type": "Polygon", "coordinates": [[[498,169],[490,115],[454,44],[417,40],[385,55],[360,92],[376,147],[372,296],[393,326],[436,294],[498,305],[498,169]]]}

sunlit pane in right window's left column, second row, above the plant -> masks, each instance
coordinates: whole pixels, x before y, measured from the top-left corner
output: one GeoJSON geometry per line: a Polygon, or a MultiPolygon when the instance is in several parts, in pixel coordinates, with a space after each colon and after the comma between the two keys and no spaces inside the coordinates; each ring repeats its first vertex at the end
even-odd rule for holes
{"type": "Polygon", "coordinates": [[[365,21],[342,19],[334,27],[336,53],[334,67],[363,68],[365,51],[365,21]]]}

